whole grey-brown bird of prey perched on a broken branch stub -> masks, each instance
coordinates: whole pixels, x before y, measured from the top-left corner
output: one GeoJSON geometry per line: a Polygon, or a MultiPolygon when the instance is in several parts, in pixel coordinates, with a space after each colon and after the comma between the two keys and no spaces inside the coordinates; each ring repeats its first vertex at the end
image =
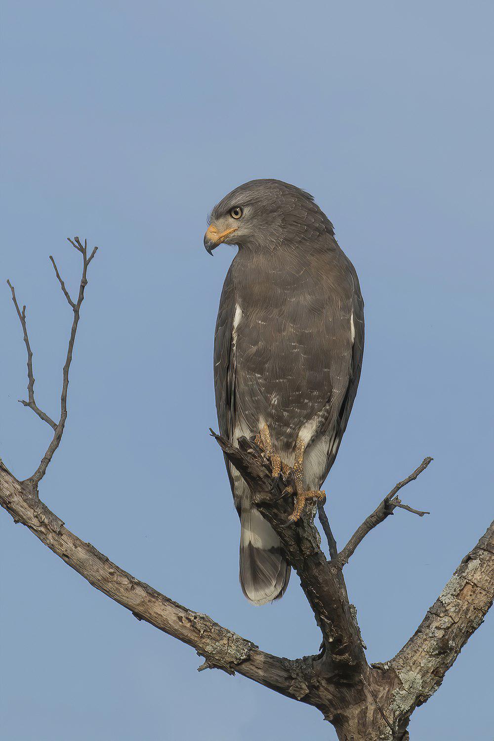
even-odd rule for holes
{"type": "MultiPolygon", "coordinates": [[[[214,345],[221,435],[256,436],[273,466],[293,471],[295,522],[324,499],[356,396],[364,302],[356,270],[313,196],[280,180],[240,185],[213,208],[209,253],[238,245],[218,310],[214,345]]],[[[284,594],[290,565],[247,484],[227,461],[240,516],[240,582],[264,605],[284,594]]]]}

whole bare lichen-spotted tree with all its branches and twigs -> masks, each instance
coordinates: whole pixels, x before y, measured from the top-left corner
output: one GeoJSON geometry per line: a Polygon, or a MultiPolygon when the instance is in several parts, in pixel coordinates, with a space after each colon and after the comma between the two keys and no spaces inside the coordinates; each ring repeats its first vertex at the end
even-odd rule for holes
{"type": "Polygon", "coordinates": [[[54,436],[33,476],[19,481],[0,460],[0,505],[36,535],[47,548],[84,577],[93,587],[161,631],[196,649],[204,657],[199,671],[218,668],[228,674],[253,679],[293,700],[318,708],[336,728],[341,741],[406,741],[410,716],[427,702],[441,685],[446,671],[469,637],[484,620],[494,598],[494,522],[477,545],[461,561],[434,605],[427,611],[415,634],[395,657],[369,665],[365,657],[356,609],[350,604],[343,568],[362,539],[397,507],[423,516],[398,499],[398,491],[427,468],[431,459],[399,482],[375,511],[359,526],[338,553],[330,523],[320,508],[319,518],[330,548],[328,561],[321,549],[321,536],[314,524],[315,510],[307,511],[296,524],[287,526],[293,497],[285,494],[287,482],[271,476],[270,462],[253,440],[242,438],[238,447],[213,433],[225,456],[241,473],[253,494],[253,502],[273,525],[285,555],[296,570],[307,601],[321,630],[318,654],[285,659],[261,651],[253,642],[223,628],[207,615],[179,605],[144,582],[127,574],[107,556],[96,551],[64,526],[39,498],[39,483],[59,446],[67,419],[67,389],[76,339],[87,267],[96,248],[87,256],[87,245],[70,240],[82,256],[79,296],[70,298],[59,270],[51,258],[61,290],[73,311],[73,325],[62,371],[61,410],[54,422],[36,405],[33,353],[27,335],[25,306],[19,308],[10,290],[21,322],[27,349],[27,401],[54,436]]]}

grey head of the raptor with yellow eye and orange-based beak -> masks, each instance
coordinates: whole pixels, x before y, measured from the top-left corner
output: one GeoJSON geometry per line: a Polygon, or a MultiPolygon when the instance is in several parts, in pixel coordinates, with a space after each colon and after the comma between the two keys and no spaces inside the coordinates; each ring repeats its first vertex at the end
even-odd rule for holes
{"type": "Polygon", "coordinates": [[[281,180],[251,180],[239,185],[211,211],[204,247],[210,255],[225,243],[239,247],[273,248],[333,234],[333,225],[305,190],[281,180]]]}

